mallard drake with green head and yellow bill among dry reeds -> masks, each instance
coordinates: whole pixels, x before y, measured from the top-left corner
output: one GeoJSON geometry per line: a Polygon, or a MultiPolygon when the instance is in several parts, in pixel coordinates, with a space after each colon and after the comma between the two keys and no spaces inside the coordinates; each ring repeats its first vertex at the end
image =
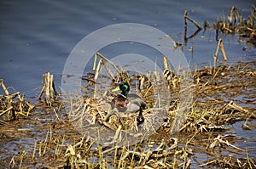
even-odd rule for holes
{"type": "MultiPolygon", "coordinates": [[[[127,82],[120,82],[119,87],[113,89],[112,92],[121,90],[120,94],[117,94],[112,99],[111,103],[108,105],[108,114],[105,116],[104,121],[108,121],[110,115],[117,113],[119,116],[124,116],[123,114],[133,114],[139,111],[137,121],[139,123],[143,122],[143,109],[146,107],[147,103],[138,96],[136,93],[129,93],[130,86],[127,82]]],[[[105,104],[106,105],[106,104],[105,104]]]]}

